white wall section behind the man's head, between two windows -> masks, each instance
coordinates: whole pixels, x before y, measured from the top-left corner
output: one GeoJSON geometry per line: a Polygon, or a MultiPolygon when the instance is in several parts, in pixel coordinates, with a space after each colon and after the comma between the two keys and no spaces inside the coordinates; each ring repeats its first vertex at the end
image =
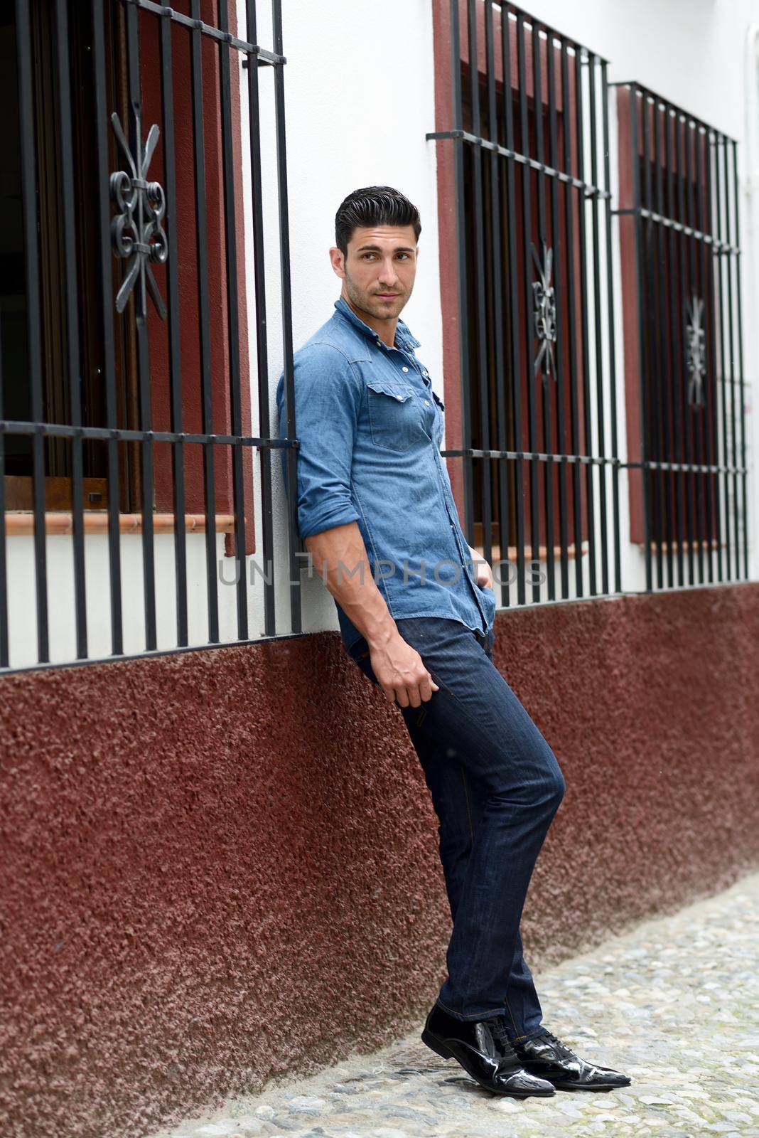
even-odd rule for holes
{"type": "MultiPolygon", "coordinates": [[[[442,395],[442,324],[437,256],[436,163],[432,5],[425,0],[283,0],[290,256],[295,348],[334,312],[340,280],[332,271],[337,206],[362,185],[394,185],[422,215],[419,269],[403,310],[420,340],[417,354],[442,395]]],[[[265,41],[262,41],[265,42],[265,41]]],[[[262,83],[270,76],[261,75],[262,83]]],[[[268,105],[267,105],[268,107],[268,105]]],[[[273,162],[267,168],[274,232],[273,162]]],[[[270,263],[272,295],[277,287],[270,263]]],[[[282,365],[280,328],[269,329],[272,429],[274,391],[282,365]]],[[[251,373],[255,370],[251,369],[251,373]]],[[[275,479],[275,561],[286,558],[285,501],[275,479]]],[[[260,529],[258,530],[260,533],[260,529]]],[[[290,628],[286,575],[278,575],[277,628],[290,628]]],[[[301,572],[303,628],[336,628],[336,612],[322,580],[301,572]]],[[[262,628],[262,618],[259,621],[262,628]]]]}

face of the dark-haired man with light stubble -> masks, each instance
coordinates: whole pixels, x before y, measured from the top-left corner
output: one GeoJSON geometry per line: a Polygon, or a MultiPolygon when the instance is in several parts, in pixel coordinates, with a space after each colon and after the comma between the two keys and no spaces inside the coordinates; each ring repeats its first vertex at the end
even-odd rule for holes
{"type": "Polygon", "coordinates": [[[414,289],[417,244],[412,225],[353,230],[348,256],[330,249],[332,267],[353,308],[375,320],[395,320],[414,289]]]}

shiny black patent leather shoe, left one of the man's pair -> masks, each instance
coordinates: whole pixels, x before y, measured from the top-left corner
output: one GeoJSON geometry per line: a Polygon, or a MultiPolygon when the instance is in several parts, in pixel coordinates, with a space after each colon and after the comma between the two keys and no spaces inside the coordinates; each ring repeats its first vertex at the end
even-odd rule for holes
{"type": "Polygon", "coordinates": [[[527,1098],[556,1094],[553,1086],[524,1070],[506,1033],[502,1015],[466,1022],[435,1004],[422,1040],[444,1059],[456,1059],[467,1074],[494,1095],[527,1098]]]}

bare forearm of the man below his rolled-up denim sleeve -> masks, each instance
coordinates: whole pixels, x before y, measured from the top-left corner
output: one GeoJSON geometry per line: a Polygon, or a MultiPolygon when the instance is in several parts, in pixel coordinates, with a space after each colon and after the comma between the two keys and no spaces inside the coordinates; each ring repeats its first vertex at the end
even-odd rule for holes
{"type": "Polygon", "coordinates": [[[303,544],[328,592],[368,644],[382,644],[398,632],[374,580],[358,522],[325,529],[303,544]]]}

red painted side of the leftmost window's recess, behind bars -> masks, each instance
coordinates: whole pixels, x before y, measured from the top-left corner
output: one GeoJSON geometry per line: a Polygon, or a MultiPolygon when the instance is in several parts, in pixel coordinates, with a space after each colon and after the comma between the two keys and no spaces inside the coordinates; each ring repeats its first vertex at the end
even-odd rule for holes
{"type": "MultiPolygon", "coordinates": [[[[236,0],[228,3],[230,27],[236,28],[236,0]]],[[[189,5],[178,6],[189,15],[189,5]],[[186,9],[186,10],[184,10],[186,9]]],[[[144,122],[162,123],[161,81],[160,81],[160,23],[152,13],[140,14],[140,51],[142,76],[142,106],[144,122]]],[[[202,0],[201,17],[210,27],[218,27],[217,0],[202,0]]],[[[180,280],[180,377],[182,387],[182,427],[192,434],[202,431],[202,363],[200,344],[200,302],[198,237],[195,216],[195,135],[192,116],[192,68],[191,40],[186,28],[172,25],[172,75],[174,91],[174,162],[176,165],[176,218],[167,215],[166,224],[176,225],[177,266],[180,280]]],[[[212,429],[216,434],[232,432],[232,393],[230,389],[231,351],[236,355],[240,370],[240,401],[242,434],[251,434],[251,395],[250,366],[248,344],[248,306],[245,277],[245,212],[242,190],[242,125],[240,107],[240,89],[237,84],[241,58],[235,50],[228,52],[231,85],[230,117],[232,124],[232,181],[234,196],[234,234],[236,255],[236,289],[237,289],[237,340],[230,343],[230,313],[227,296],[227,264],[224,204],[224,170],[222,139],[222,75],[219,63],[219,46],[209,35],[201,38],[201,74],[202,74],[202,131],[203,131],[203,167],[206,174],[206,288],[209,310],[209,365],[211,389],[212,429]]],[[[151,178],[165,184],[164,155],[165,139],[161,134],[151,163],[151,178]]],[[[245,156],[245,160],[247,156],[245,156]]],[[[153,273],[164,299],[168,303],[166,284],[166,267],[155,265],[153,273]]],[[[161,321],[155,307],[148,311],[150,336],[150,380],[152,397],[152,415],[155,430],[170,430],[170,388],[169,388],[169,343],[168,321],[161,321]]],[[[215,483],[217,513],[234,511],[232,447],[216,446],[215,483]]],[[[243,460],[243,497],[245,517],[245,552],[253,553],[255,519],[252,502],[253,459],[251,447],[242,448],[243,460]]],[[[172,454],[168,443],[155,444],[155,484],[156,508],[172,511],[173,471],[172,454]]],[[[202,447],[189,445],[184,448],[186,511],[205,513],[206,501],[203,492],[203,456],[202,447]]],[[[234,553],[234,536],[227,535],[226,553],[234,553]]]]}

